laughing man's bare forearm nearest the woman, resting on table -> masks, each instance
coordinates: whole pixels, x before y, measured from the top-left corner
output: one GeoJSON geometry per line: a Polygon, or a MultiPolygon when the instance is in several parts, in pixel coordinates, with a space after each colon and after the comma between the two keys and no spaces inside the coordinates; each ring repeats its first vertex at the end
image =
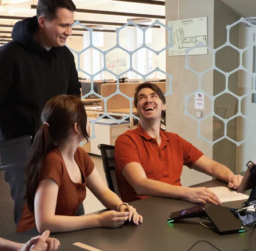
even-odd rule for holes
{"type": "Polygon", "coordinates": [[[170,185],[157,180],[142,179],[135,189],[137,195],[186,199],[187,187],[170,185]]]}

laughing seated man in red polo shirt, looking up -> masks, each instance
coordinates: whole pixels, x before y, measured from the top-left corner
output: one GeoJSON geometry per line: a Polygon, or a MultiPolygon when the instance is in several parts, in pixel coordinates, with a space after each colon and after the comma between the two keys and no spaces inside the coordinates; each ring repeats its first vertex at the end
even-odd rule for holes
{"type": "Polygon", "coordinates": [[[207,188],[181,186],[183,165],[223,180],[229,188],[239,187],[242,176],[209,159],[179,135],[160,129],[165,96],[156,84],[137,86],[134,104],[140,118],[138,128],[123,133],[115,141],[115,169],[123,201],[157,196],[221,204],[207,188]]]}

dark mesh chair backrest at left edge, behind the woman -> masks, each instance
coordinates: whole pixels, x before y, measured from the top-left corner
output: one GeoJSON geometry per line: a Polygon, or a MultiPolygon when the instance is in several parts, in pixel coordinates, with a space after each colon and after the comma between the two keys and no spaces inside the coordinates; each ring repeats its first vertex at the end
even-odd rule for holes
{"type": "Polygon", "coordinates": [[[31,136],[0,141],[0,236],[15,233],[25,200],[25,163],[31,136]]]}

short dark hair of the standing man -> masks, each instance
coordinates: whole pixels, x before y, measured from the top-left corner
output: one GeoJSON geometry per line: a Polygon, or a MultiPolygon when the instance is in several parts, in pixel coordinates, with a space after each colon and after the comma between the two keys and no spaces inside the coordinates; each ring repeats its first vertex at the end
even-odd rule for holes
{"type": "Polygon", "coordinates": [[[45,17],[51,21],[56,18],[57,8],[65,8],[71,11],[76,11],[72,0],[38,0],[37,3],[37,19],[39,17],[45,17]]]}

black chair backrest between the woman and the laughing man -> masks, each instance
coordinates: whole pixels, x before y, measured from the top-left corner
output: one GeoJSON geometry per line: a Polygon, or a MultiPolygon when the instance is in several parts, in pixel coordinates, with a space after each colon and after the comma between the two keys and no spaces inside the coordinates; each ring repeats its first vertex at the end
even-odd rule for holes
{"type": "Polygon", "coordinates": [[[101,150],[107,185],[111,191],[121,197],[117,186],[117,176],[115,174],[115,147],[113,145],[99,144],[98,149],[101,150]]]}

